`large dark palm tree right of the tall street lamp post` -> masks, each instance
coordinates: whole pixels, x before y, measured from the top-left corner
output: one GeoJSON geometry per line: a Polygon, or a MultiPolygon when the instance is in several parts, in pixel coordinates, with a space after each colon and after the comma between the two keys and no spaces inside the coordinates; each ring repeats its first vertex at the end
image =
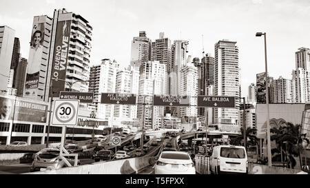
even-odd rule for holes
{"type": "MultiPolygon", "coordinates": [[[[304,136],[300,134],[300,125],[293,125],[293,123],[287,123],[286,126],[272,127],[270,132],[273,134],[271,140],[275,140],[277,147],[271,149],[273,156],[272,160],[276,162],[282,162],[283,160],[287,161],[291,168],[296,166],[296,160],[293,156],[300,158],[300,153],[302,153],[302,141],[306,140],[309,143],[307,138],[302,138],[304,136]],[[285,156],[285,158],[284,158],[285,156]]],[[[304,136],[305,137],[305,136],[304,136]]],[[[301,164],[300,158],[300,167],[301,164]]]]}

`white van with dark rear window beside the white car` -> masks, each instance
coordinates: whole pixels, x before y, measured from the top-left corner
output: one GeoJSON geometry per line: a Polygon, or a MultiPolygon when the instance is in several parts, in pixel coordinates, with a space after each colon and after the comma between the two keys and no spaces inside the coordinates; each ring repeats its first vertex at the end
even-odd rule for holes
{"type": "Polygon", "coordinates": [[[244,173],[247,174],[247,151],[243,146],[218,145],[213,148],[210,168],[213,174],[244,173]]]}

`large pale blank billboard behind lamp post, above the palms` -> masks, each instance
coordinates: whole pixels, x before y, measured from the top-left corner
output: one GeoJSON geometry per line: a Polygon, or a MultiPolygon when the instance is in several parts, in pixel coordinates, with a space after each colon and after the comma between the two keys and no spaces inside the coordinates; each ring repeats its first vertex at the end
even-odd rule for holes
{"type": "MultiPolygon", "coordinates": [[[[285,126],[291,122],[294,125],[302,123],[302,112],[305,104],[269,104],[269,125],[272,127],[285,126]]],[[[267,105],[256,105],[257,138],[266,138],[267,133],[267,105]]]]}

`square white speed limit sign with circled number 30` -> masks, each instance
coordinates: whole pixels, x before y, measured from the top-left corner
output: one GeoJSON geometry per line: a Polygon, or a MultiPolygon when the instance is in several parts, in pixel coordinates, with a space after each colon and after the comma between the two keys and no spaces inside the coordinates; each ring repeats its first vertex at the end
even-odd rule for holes
{"type": "Polygon", "coordinates": [[[79,101],[56,100],[53,113],[53,125],[76,125],[79,101]]]}

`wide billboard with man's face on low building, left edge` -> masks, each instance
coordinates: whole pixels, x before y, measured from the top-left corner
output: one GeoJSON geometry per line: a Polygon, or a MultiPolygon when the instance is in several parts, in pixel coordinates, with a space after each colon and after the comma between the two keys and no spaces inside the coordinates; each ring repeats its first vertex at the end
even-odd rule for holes
{"type": "Polygon", "coordinates": [[[48,105],[24,101],[18,97],[0,96],[0,113],[1,120],[46,123],[48,105]]]}

